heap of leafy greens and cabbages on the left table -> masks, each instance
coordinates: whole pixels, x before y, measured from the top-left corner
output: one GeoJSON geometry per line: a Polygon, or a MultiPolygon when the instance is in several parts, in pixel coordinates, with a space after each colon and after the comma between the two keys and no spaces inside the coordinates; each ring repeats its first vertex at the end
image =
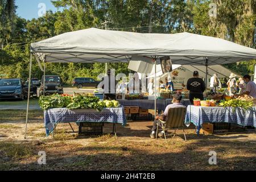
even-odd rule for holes
{"type": "Polygon", "coordinates": [[[68,108],[68,109],[96,109],[101,111],[104,107],[119,107],[118,101],[100,101],[100,98],[93,96],[93,94],[73,94],[52,96],[41,96],[39,98],[39,105],[43,110],[53,108],[68,108]]]}

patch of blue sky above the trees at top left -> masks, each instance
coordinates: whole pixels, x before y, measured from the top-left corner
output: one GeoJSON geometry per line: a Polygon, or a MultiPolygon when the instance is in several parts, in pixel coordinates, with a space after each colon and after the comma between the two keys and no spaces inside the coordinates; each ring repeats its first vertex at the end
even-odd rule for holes
{"type": "Polygon", "coordinates": [[[44,3],[46,5],[47,11],[57,11],[57,9],[52,5],[51,0],[16,0],[16,6],[18,6],[16,13],[25,19],[38,18],[38,12],[40,11],[40,7],[38,7],[38,5],[40,3],[44,3]]]}

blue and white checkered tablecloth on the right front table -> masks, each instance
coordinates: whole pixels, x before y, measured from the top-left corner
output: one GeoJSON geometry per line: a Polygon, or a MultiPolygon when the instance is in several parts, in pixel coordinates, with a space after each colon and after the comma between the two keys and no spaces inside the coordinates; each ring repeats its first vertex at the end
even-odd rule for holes
{"type": "Polygon", "coordinates": [[[202,107],[189,105],[185,118],[185,124],[193,123],[197,127],[197,133],[203,123],[237,123],[241,126],[256,127],[256,107],[243,110],[237,107],[202,107]]]}

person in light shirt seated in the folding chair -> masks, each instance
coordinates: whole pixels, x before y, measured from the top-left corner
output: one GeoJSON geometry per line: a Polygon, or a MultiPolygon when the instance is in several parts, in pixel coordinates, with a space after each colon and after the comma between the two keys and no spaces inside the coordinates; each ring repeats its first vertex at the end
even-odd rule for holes
{"type": "MultiPolygon", "coordinates": [[[[174,95],[174,99],[172,100],[173,104],[170,104],[166,107],[166,110],[164,111],[164,113],[162,115],[157,115],[155,118],[155,121],[153,123],[153,127],[152,127],[152,132],[150,134],[151,138],[156,138],[156,129],[157,129],[157,124],[158,124],[158,119],[161,119],[162,121],[165,121],[168,115],[168,111],[170,108],[177,108],[177,107],[185,107],[183,104],[181,104],[181,100],[182,100],[182,96],[181,94],[177,93],[174,95]]],[[[158,134],[158,137],[163,138],[164,137],[164,131],[161,131],[158,134]]]]}

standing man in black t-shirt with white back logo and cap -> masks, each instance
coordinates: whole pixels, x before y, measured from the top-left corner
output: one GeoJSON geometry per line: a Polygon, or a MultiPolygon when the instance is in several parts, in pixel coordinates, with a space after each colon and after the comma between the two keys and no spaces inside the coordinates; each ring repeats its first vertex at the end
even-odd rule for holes
{"type": "Polygon", "coordinates": [[[199,72],[193,73],[193,78],[189,78],[187,83],[187,89],[189,90],[189,100],[193,104],[194,98],[200,98],[204,100],[204,91],[206,89],[205,82],[202,78],[199,78],[199,72]]]}

